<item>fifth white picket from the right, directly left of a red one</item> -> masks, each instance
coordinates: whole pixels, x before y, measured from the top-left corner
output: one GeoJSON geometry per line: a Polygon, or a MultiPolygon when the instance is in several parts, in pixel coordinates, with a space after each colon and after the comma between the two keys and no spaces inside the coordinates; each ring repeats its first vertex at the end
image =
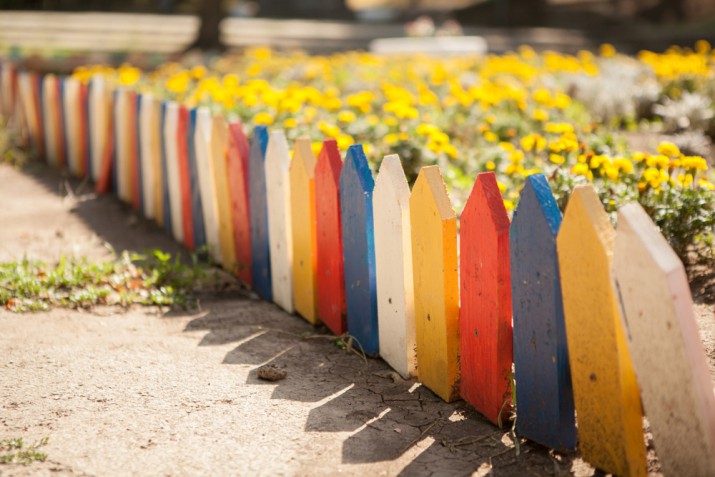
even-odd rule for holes
{"type": "Polygon", "coordinates": [[[173,101],[164,103],[164,152],[166,153],[166,178],[168,191],[168,211],[174,239],[177,242],[184,242],[184,214],[182,206],[182,180],[181,165],[179,164],[179,143],[177,136],[179,133],[179,105],[173,101]]]}

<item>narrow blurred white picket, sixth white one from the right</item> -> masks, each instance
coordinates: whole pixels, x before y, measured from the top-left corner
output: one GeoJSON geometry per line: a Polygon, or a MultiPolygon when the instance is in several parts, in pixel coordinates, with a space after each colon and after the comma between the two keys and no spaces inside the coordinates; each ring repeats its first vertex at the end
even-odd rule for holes
{"type": "MultiPolygon", "coordinates": [[[[156,136],[154,135],[154,124],[156,124],[156,108],[154,107],[154,96],[150,93],[142,94],[139,106],[139,148],[141,151],[141,168],[142,178],[142,197],[144,216],[148,219],[153,219],[156,216],[156,201],[154,200],[154,191],[156,190],[156,153],[157,148],[154,144],[156,136]]],[[[160,159],[159,159],[160,160],[160,159]]]]}

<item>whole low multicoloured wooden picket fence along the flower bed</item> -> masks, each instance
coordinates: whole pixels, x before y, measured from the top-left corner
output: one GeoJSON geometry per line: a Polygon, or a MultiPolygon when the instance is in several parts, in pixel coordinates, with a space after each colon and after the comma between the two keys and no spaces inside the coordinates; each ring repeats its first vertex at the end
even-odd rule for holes
{"type": "Polygon", "coordinates": [[[638,204],[614,229],[592,186],[562,217],[528,177],[513,220],[493,173],[460,218],[437,166],[410,191],[360,145],[187,109],[102,77],[0,66],[0,106],[48,163],[88,177],[262,298],[348,333],[445,401],[616,475],[715,475],[715,395],[682,263],[638,204]],[[641,403],[644,409],[641,408],[641,403]],[[578,417],[578,425],[575,416],[578,417]]]}

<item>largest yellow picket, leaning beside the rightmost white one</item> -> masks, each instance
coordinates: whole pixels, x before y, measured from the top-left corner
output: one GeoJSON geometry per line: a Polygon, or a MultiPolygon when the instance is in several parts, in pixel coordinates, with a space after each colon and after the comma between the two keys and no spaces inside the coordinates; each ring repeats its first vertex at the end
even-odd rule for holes
{"type": "Polygon", "coordinates": [[[646,473],[642,411],[612,280],[615,232],[592,185],[576,186],[556,238],[566,338],[584,460],[646,473]]]}

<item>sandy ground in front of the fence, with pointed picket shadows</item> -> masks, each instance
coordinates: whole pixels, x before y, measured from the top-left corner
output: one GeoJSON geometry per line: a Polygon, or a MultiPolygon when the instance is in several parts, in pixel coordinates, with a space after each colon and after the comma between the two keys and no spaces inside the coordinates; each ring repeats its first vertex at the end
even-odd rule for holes
{"type": "MultiPolygon", "coordinates": [[[[0,260],[180,251],[78,189],[0,165],[0,260]]],[[[713,308],[696,309],[712,364],[713,308]]],[[[0,311],[0,438],[50,439],[46,462],[0,475],[593,475],[577,454],[527,443],[517,456],[464,402],[306,334],[326,331],[238,289],[192,312],[0,311]],[[257,379],[265,363],[287,378],[257,379]]]]}

